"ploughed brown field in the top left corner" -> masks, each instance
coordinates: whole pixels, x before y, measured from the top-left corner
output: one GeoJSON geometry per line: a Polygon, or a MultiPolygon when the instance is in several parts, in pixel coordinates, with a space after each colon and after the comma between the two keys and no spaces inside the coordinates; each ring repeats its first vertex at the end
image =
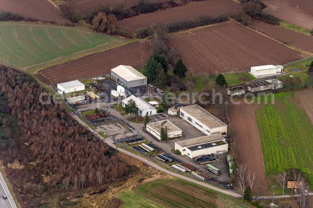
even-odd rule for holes
{"type": "Polygon", "coordinates": [[[39,21],[67,22],[48,0],[1,0],[0,10],[39,21]]]}

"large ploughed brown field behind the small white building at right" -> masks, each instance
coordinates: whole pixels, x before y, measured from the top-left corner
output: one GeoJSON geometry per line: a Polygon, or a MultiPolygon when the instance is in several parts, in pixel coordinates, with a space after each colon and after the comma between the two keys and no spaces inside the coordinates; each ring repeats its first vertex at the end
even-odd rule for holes
{"type": "Polygon", "coordinates": [[[177,33],[167,40],[187,68],[198,74],[248,70],[284,64],[303,57],[285,45],[234,22],[177,33]]]}

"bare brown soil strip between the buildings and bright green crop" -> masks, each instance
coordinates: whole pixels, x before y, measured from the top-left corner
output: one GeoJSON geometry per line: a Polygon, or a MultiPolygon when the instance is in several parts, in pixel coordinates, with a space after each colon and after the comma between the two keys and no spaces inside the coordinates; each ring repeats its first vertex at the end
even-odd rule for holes
{"type": "Polygon", "coordinates": [[[239,164],[247,165],[247,170],[255,172],[260,194],[268,195],[267,178],[264,173],[262,149],[253,107],[241,102],[241,104],[233,105],[229,112],[230,122],[236,133],[239,164]]]}

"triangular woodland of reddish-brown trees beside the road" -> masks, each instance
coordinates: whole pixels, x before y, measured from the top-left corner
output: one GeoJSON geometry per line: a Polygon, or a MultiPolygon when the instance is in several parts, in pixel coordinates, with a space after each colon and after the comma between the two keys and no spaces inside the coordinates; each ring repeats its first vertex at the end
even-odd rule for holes
{"type": "Polygon", "coordinates": [[[0,86],[0,155],[23,207],[45,205],[43,195],[121,180],[134,170],[63,106],[41,104],[45,91],[30,75],[0,66],[0,86]]]}

